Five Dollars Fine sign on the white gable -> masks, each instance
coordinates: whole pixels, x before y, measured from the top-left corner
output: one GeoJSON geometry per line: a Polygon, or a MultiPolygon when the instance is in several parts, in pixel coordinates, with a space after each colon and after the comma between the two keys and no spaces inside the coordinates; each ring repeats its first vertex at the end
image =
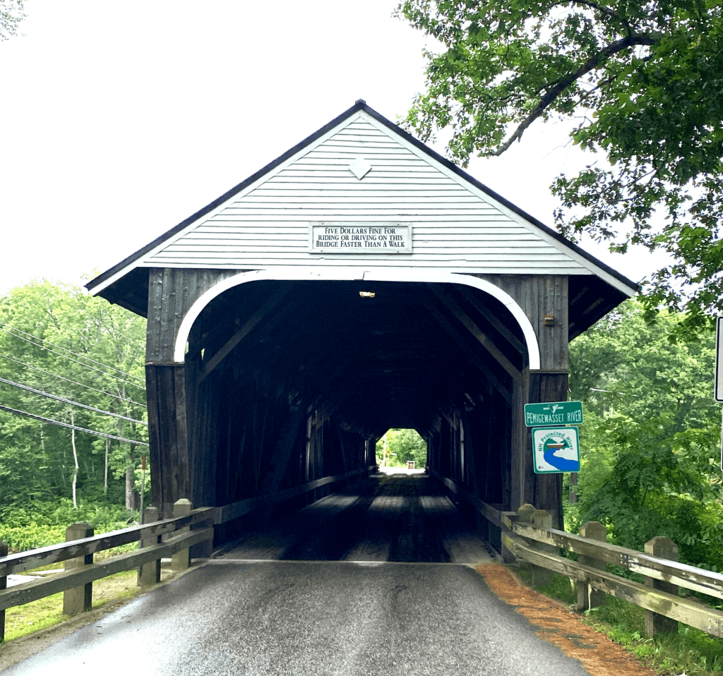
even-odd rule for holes
{"type": "Polygon", "coordinates": [[[309,223],[311,254],[411,254],[408,223],[309,223]]]}

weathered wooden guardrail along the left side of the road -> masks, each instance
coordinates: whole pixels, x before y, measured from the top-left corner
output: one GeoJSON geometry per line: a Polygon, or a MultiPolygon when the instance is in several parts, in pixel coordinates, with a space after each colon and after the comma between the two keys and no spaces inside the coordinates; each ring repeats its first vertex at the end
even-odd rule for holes
{"type": "MultiPolygon", "coordinates": [[[[153,519],[141,526],[100,535],[92,534],[93,529],[89,524],[73,524],[67,530],[69,534],[67,542],[9,556],[3,555],[7,554],[7,546],[0,540],[0,641],[4,639],[7,608],[65,592],[64,612],[67,615],[90,610],[93,581],[138,568],[138,584],[158,582],[162,558],[171,557],[172,567],[178,570],[190,565],[189,552],[193,545],[205,542],[210,550],[210,545],[213,544],[214,525],[238,519],[239,516],[252,511],[273,507],[283,501],[325,485],[348,480],[371,469],[373,468],[368,467],[342,475],[322,477],[294,488],[248,498],[223,507],[194,509],[189,501],[179,500],[174,508],[173,519],[153,519]],[[88,537],[74,537],[74,533],[87,533],[88,537]],[[95,553],[132,542],[139,542],[141,548],[93,563],[95,553]],[[49,563],[65,563],[66,570],[46,579],[33,580],[6,589],[7,576],[32,571],[49,563]]],[[[153,507],[144,510],[144,521],[148,521],[148,516],[154,512],[158,514],[158,510],[153,507]]]]}

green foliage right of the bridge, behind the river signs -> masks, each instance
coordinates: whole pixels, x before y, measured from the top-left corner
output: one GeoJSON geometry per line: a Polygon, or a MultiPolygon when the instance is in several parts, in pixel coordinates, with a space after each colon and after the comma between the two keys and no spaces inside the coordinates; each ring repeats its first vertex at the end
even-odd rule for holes
{"type": "Polygon", "coordinates": [[[585,407],[578,503],[566,525],[606,524],[642,550],[671,538],[680,560],[723,560],[720,405],[712,400],[714,336],[673,344],[677,317],[646,324],[629,301],[570,345],[570,398],[585,407]]]}

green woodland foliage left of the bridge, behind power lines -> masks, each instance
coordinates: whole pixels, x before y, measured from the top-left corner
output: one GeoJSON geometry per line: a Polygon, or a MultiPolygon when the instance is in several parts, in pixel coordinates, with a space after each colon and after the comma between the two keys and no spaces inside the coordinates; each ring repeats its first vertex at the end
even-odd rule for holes
{"type": "MultiPolygon", "coordinates": [[[[7,383],[0,383],[0,400],[50,420],[145,441],[144,348],[145,320],[129,311],[70,285],[39,280],[17,287],[0,298],[0,378],[66,401],[7,383]]],[[[127,473],[133,488],[142,448],[108,442],[109,500],[124,500],[127,473]]],[[[0,504],[105,497],[105,468],[105,438],[0,411],[0,504]]]]}

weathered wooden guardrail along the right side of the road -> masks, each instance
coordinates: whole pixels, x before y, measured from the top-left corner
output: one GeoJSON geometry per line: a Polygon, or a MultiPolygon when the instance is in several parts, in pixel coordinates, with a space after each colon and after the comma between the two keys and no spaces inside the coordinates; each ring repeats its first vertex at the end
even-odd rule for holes
{"type": "MultiPolygon", "coordinates": [[[[578,610],[601,605],[599,594],[610,594],[646,610],[646,633],[674,631],[675,622],[682,622],[723,638],[723,612],[692,598],[682,598],[677,587],[723,599],[723,575],[678,563],[654,553],[642,553],[607,542],[574,535],[549,527],[547,512],[524,505],[518,512],[505,512],[484,503],[454,482],[432,472],[457,498],[467,501],[481,516],[501,529],[502,553],[531,563],[534,570],[560,573],[578,583],[578,610]],[[533,521],[537,521],[534,523],[533,521]],[[560,550],[577,553],[578,561],[560,556],[560,550]],[[608,573],[606,564],[620,566],[641,574],[640,584],[608,573]],[[661,621],[673,620],[673,624],[661,621]]],[[[604,540],[604,527],[591,522],[583,532],[594,529],[604,540]],[[602,529],[602,531],[601,531],[602,529]]],[[[654,538],[651,550],[659,545],[675,547],[667,538],[654,538]],[[664,542],[661,542],[664,541],[664,542]]],[[[675,548],[677,550],[677,548],[675,548]]],[[[677,558],[677,551],[676,551],[677,558]]]]}

